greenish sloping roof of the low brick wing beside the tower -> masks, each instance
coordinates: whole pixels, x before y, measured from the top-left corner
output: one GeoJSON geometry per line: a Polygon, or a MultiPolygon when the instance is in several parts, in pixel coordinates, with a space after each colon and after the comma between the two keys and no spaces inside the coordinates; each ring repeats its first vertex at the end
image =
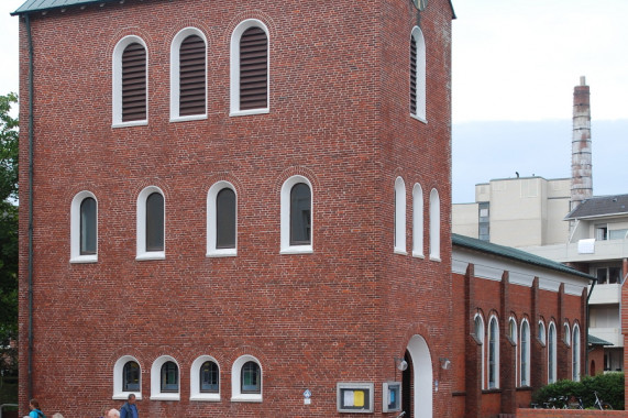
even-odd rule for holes
{"type": "Polygon", "coordinates": [[[538,255],[514,249],[511,246],[498,245],[487,241],[477,240],[475,238],[459,235],[458,233],[451,234],[451,241],[453,245],[515,260],[521,263],[533,264],[539,267],[549,268],[561,273],[573,274],[590,280],[596,280],[596,278],[590,274],[579,272],[577,270],[568,267],[564,264],[557,263],[554,261],[543,258],[538,255]]]}

